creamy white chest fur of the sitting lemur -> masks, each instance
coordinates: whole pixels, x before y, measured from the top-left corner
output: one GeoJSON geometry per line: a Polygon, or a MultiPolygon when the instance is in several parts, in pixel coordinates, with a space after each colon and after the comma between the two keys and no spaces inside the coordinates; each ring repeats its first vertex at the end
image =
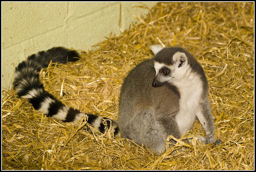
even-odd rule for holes
{"type": "Polygon", "coordinates": [[[200,110],[202,81],[197,74],[189,71],[188,75],[181,80],[174,81],[173,84],[180,92],[180,110],[175,118],[180,134],[183,135],[191,129],[196,120],[196,114],[200,110]]]}

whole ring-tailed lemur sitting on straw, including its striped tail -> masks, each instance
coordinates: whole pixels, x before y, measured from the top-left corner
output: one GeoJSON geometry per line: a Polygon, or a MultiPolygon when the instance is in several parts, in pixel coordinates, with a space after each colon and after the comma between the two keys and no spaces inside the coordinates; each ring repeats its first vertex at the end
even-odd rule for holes
{"type": "MultiPolygon", "coordinates": [[[[208,83],[202,66],[180,47],[151,46],[155,54],[133,68],[122,84],[118,121],[86,114],[88,123],[104,133],[110,125],[114,136],[131,139],[150,150],[163,152],[168,135],[180,138],[191,129],[196,117],[206,131],[205,143],[214,143],[214,122],[208,100],[208,83]]],[[[29,99],[49,117],[76,123],[85,113],[62,104],[44,90],[41,68],[50,61],[77,61],[79,55],[63,47],[29,56],[15,70],[14,86],[19,97],[29,99]]],[[[220,143],[220,140],[218,140],[220,143]]]]}

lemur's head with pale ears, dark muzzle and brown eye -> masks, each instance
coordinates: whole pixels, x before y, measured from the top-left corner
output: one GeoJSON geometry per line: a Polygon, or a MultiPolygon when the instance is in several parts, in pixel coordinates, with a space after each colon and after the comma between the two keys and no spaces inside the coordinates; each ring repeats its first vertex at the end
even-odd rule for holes
{"type": "Polygon", "coordinates": [[[154,68],[156,76],[152,82],[153,87],[162,86],[164,83],[173,83],[181,80],[188,71],[188,59],[186,54],[177,48],[162,48],[158,51],[150,47],[155,54],[154,68]]]}

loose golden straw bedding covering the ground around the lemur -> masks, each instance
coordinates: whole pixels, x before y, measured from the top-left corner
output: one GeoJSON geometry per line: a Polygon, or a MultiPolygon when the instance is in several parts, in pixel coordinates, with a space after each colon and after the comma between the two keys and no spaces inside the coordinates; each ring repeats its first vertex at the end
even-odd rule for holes
{"type": "MultiPolygon", "coordinates": [[[[46,90],[66,105],[117,119],[124,77],[153,57],[148,46],[184,47],[206,72],[221,145],[178,141],[156,155],[109,132],[86,131],[89,126],[81,121],[73,125],[47,118],[27,100],[17,98],[14,90],[3,89],[2,169],[254,170],[253,5],[158,3],[145,18],[136,16],[140,24],[132,24],[119,37],[110,35],[93,51],[78,50],[80,61],[49,65],[40,74],[46,90]]],[[[196,121],[188,134],[205,132],[196,121]]]]}

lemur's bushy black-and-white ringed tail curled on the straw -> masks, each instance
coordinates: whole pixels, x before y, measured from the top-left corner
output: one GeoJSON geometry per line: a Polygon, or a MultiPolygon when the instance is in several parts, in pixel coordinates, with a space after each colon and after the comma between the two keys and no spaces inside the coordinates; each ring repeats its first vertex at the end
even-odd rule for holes
{"type": "MultiPolygon", "coordinates": [[[[50,61],[53,63],[67,63],[69,61],[78,61],[79,54],[74,50],[63,47],[54,47],[48,51],[40,51],[37,54],[29,56],[22,61],[14,73],[14,87],[19,97],[28,99],[37,111],[43,111],[48,117],[54,117],[64,122],[76,123],[85,113],[78,109],[70,108],[62,104],[54,96],[44,90],[43,84],[39,80],[41,68],[46,68],[50,61]]],[[[110,121],[108,118],[102,118],[97,115],[86,114],[88,123],[96,130],[104,133],[105,124],[114,135],[118,135],[118,126],[116,121],[110,121]],[[105,121],[105,122],[104,122],[105,121]]]]}

